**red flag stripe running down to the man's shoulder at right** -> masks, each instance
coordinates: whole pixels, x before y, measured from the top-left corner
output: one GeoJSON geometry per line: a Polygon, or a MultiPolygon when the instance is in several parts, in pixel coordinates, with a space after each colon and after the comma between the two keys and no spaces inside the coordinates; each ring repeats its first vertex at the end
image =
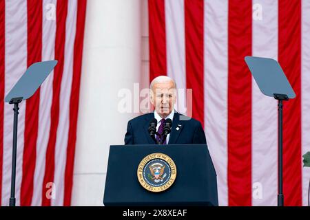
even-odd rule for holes
{"type": "Polygon", "coordinates": [[[203,1],[185,0],[186,87],[192,89],[192,117],[204,123],[203,1]]]}

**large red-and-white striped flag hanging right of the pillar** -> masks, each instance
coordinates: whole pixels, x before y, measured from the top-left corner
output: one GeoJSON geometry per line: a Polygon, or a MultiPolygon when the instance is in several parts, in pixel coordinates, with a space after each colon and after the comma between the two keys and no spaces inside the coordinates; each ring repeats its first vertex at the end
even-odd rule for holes
{"type": "Polygon", "coordinates": [[[284,103],[286,206],[306,206],[310,170],[309,0],[149,0],[149,78],[193,89],[221,206],[276,206],[278,102],[261,94],[245,56],[279,61],[296,98],[284,103]]]}

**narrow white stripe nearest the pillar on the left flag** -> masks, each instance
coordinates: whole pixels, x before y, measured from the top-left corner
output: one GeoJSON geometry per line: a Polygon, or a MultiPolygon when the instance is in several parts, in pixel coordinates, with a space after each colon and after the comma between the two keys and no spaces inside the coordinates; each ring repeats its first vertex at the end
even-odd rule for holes
{"type": "Polygon", "coordinates": [[[59,124],[55,145],[54,184],[56,186],[55,199],[52,206],[63,206],[65,164],[67,159],[70,95],[73,75],[73,53],[76,33],[77,1],[68,1],[68,15],[65,28],[65,64],[61,80],[59,124]]]}

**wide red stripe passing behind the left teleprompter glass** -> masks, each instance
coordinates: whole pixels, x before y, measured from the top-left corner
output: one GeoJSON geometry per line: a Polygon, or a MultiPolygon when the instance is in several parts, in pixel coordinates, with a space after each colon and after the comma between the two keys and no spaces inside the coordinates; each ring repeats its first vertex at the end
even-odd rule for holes
{"type": "MultiPolygon", "coordinates": [[[[42,54],[42,1],[28,0],[27,66],[41,61],[42,54]]],[[[40,89],[27,100],[25,106],[25,135],[23,148],[23,178],[21,206],[31,206],[39,124],[40,89]]]]}

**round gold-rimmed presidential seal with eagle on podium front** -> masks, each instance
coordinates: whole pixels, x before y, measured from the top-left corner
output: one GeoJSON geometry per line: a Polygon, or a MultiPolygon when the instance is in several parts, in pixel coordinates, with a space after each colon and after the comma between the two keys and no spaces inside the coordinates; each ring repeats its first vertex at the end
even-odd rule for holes
{"type": "Polygon", "coordinates": [[[143,188],[151,192],[162,192],[174,183],[176,164],[163,153],[152,153],[142,159],[137,175],[143,188]]]}

